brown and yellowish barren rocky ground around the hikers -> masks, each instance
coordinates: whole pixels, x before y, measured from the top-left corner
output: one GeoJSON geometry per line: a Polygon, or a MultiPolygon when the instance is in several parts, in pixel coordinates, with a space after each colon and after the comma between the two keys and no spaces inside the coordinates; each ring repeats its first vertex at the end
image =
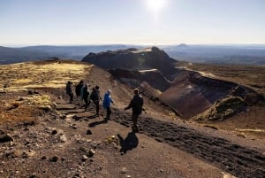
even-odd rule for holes
{"type": "MultiPolygon", "coordinates": [[[[265,176],[262,134],[183,121],[148,98],[140,133],[133,133],[131,112],[123,109],[132,91],[95,66],[51,61],[0,69],[0,177],[265,176]],[[69,64],[76,65],[70,72],[69,64]],[[113,90],[111,120],[102,107],[95,117],[93,104],[88,112],[68,104],[64,84],[80,79],[99,85],[102,95],[113,90]]],[[[246,114],[252,112],[264,113],[246,114]]],[[[226,123],[244,125],[246,114],[226,123]]]]}

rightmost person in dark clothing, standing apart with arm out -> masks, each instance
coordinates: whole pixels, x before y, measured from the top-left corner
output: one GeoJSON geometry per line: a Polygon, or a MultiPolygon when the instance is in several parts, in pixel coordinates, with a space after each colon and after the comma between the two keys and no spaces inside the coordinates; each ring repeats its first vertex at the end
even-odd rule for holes
{"type": "Polygon", "coordinates": [[[130,108],[133,109],[132,120],[133,120],[133,132],[139,132],[139,128],[137,126],[137,120],[142,111],[144,111],[143,106],[143,98],[139,95],[139,89],[133,89],[134,97],[131,100],[130,104],[125,107],[125,110],[130,108]]]}

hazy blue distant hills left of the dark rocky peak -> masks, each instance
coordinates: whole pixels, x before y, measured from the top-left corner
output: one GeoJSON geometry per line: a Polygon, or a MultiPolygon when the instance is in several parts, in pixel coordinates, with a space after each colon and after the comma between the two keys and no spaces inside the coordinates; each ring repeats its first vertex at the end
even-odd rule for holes
{"type": "MultiPolygon", "coordinates": [[[[81,46],[28,46],[22,48],[0,47],[0,65],[11,64],[50,57],[80,60],[88,52],[119,50],[134,47],[133,45],[81,45],[81,46]]],[[[139,47],[139,46],[138,46],[139,47]]]]}

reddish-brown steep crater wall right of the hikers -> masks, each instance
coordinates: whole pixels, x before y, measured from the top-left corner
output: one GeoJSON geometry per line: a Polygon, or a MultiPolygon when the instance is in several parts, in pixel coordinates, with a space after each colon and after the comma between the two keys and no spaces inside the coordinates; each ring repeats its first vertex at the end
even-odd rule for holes
{"type": "Polygon", "coordinates": [[[186,119],[206,111],[216,101],[229,95],[245,98],[255,93],[253,89],[231,81],[222,81],[186,69],[179,69],[169,89],[165,90],[160,99],[186,119]],[[232,93],[235,89],[237,93],[232,93]]]}

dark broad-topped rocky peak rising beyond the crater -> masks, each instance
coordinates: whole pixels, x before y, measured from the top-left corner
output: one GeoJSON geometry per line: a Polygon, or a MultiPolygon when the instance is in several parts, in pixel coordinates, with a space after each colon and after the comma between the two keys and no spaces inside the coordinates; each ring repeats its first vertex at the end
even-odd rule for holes
{"type": "Polygon", "coordinates": [[[101,66],[104,69],[124,68],[133,70],[157,69],[163,74],[170,73],[174,69],[176,60],[157,47],[137,50],[107,50],[105,52],[90,52],[84,62],[101,66]]]}

